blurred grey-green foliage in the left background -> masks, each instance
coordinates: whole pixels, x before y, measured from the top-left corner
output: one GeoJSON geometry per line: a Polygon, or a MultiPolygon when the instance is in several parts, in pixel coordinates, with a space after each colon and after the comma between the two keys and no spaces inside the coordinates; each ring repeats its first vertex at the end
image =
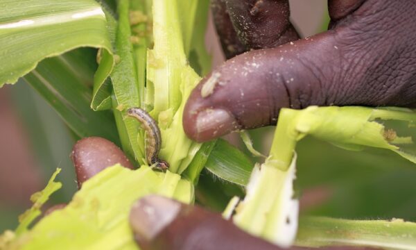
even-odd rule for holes
{"type": "MultiPolygon", "coordinates": [[[[35,156],[35,165],[42,174],[43,183],[51,177],[56,167],[62,168],[57,180],[63,187],[52,195],[49,203],[70,201],[76,191],[76,176],[69,153],[75,140],[58,114],[40,95],[24,81],[18,81],[10,88],[12,101],[28,132],[31,149],[35,156]],[[53,131],[53,133],[49,133],[53,131]]],[[[29,199],[29,197],[27,197],[29,199]]],[[[27,206],[10,207],[0,204],[0,232],[17,226],[17,216],[27,206]]]]}

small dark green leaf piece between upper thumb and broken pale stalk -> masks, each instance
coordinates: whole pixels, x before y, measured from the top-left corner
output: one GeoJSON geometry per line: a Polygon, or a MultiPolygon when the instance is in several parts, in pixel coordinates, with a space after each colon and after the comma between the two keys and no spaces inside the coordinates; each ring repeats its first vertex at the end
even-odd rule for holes
{"type": "Polygon", "coordinates": [[[225,181],[247,185],[253,164],[239,149],[223,139],[218,139],[205,167],[225,181]]]}

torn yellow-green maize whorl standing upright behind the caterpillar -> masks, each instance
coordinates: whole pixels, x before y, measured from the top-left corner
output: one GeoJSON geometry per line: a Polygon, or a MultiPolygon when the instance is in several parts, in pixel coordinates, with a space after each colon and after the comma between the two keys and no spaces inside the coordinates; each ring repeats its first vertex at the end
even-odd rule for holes
{"type": "Polygon", "coordinates": [[[120,62],[112,72],[113,110],[123,149],[139,164],[147,163],[146,136],[141,124],[126,116],[128,108],[142,108],[157,122],[162,135],[160,158],[169,163],[171,172],[184,172],[201,147],[185,135],[182,112],[191,90],[200,81],[187,56],[191,51],[199,53],[198,62],[204,72],[210,65],[206,52],[195,44],[200,42],[199,36],[203,38],[200,31],[205,31],[207,25],[205,19],[196,20],[196,15],[207,13],[208,6],[207,0],[158,0],[153,1],[150,12],[147,1],[119,1],[116,48],[120,62]],[[184,9],[190,11],[180,15],[184,9]]]}

